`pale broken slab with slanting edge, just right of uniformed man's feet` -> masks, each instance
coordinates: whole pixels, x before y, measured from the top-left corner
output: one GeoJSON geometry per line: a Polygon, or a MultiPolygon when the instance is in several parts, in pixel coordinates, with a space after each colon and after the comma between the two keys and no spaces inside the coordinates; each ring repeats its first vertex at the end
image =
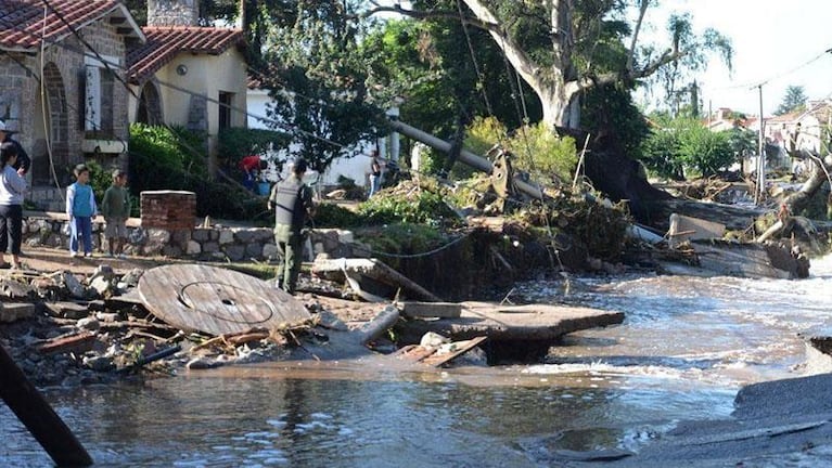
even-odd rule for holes
{"type": "Polygon", "coordinates": [[[335,277],[345,281],[347,274],[355,278],[353,274],[364,275],[377,282],[404,288],[417,298],[428,301],[439,302],[437,296],[423,288],[412,280],[387,266],[384,262],[371,258],[317,258],[312,264],[312,274],[328,277],[335,277]]]}

